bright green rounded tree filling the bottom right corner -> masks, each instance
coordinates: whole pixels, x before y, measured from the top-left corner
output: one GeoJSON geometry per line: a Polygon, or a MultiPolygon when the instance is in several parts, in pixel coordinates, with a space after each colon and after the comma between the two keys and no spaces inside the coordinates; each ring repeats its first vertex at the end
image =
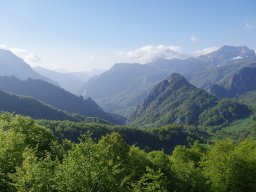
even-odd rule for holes
{"type": "Polygon", "coordinates": [[[239,146],[220,141],[203,158],[203,174],[212,191],[255,191],[256,142],[248,139],[239,146]]]}

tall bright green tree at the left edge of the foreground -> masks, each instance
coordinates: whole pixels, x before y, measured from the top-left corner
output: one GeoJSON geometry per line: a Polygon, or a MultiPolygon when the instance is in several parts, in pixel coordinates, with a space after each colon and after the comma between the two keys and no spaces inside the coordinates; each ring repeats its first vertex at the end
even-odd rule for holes
{"type": "MultiPolygon", "coordinates": [[[[17,177],[14,177],[14,175],[16,173],[21,174],[18,171],[19,167],[25,166],[27,168],[30,164],[29,159],[27,159],[27,163],[24,161],[24,164],[24,155],[28,155],[28,152],[33,150],[33,155],[36,155],[37,158],[44,158],[47,153],[52,151],[54,141],[55,139],[50,131],[35,124],[34,120],[20,115],[2,113],[0,115],[1,191],[15,191],[15,185],[12,183],[17,177]]],[[[31,161],[31,166],[33,165],[31,161]]],[[[32,167],[27,169],[30,170],[30,168],[32,169],[32,167]]],[[[22,182],[21,178],[18,180],[22,182]]],[[[25,185],[25,183],[23,184],[25,185]]],[[[26,191],[26,189],[23,191],[26,191]]]]}

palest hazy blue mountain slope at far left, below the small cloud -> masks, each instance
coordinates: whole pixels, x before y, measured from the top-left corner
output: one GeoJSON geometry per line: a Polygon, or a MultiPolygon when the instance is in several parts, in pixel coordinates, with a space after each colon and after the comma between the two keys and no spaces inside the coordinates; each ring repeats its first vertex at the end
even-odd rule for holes
{"type": "Polygon", "coordinates": [[[0,76],[15,76],[23,80],[42,79],[57,85],[56,82],[38,74],[21,58],[8,50],[0,49],[0,69],[0,76]]]}

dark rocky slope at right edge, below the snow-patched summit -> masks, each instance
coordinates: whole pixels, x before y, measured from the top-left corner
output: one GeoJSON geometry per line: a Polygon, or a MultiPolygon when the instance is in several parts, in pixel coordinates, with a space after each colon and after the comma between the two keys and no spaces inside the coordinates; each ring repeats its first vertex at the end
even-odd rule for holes
{"type": "Polygon", "coordinates": [[[218,97],[236,97],[248,91],[256,91],[256,63],[243,67],[220,84],[210,88],[218,97]]]}

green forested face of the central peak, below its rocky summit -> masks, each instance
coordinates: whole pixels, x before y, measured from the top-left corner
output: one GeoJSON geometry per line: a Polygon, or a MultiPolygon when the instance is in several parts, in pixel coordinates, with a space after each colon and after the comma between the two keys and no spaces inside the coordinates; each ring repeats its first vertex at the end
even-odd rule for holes
{"type": "MultiPolygon", "coordinates": [[[[175,84],[174,84],[175,85],[175,84]]],[[[193,87],[188,82],[173,90],[171,83],[150,101],[143,113],[136,115],[135,126],[159,126],[166,124],[197,125],[199,115],[217,103],[217,98],[193,87]]],[[[149,96],[150,97],[150,96],[149,96]]]]}

